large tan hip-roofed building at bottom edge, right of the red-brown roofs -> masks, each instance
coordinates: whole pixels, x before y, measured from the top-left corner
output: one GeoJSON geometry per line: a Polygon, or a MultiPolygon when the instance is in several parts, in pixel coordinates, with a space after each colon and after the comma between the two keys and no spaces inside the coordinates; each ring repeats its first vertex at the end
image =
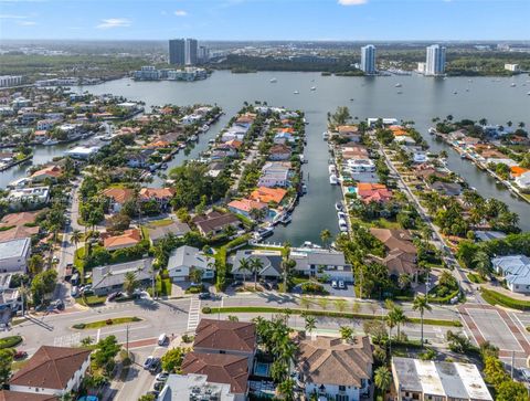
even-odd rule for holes
{"type": "Polygon", "coordinates": [[[369,395],[372,346],[368,336],[351,341],[317,337],[299,342],[296,357],[297,384],[307,399],[359,401],[369,395]]]}

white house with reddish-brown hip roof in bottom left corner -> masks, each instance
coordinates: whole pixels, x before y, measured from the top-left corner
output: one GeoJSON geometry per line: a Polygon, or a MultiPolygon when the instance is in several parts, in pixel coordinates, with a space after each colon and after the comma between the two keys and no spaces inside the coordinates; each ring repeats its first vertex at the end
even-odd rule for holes
{"type": "MultiPolygon", "coordinates": [[[[91,350],[42,346],[9,381],[12,392],[62,397],[80,388],[91,365],[91,350]]],[[[22,399],[23,400],[23,399],[22,399]]]]}

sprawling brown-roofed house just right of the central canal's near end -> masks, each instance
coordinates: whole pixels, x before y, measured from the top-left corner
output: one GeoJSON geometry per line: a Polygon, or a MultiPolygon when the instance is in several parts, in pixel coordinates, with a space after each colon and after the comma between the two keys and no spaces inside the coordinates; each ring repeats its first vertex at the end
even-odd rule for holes
{"type": "Polygon", "coordinates": [[[378,262],[389,268],[391,276],[407,274],[417,284],[420,268],[417,267],[417,250],[412,243],[412,236],[405,230],[370,229],[370,233],[381,241],[386,249],[386,256],[378,262]]]}

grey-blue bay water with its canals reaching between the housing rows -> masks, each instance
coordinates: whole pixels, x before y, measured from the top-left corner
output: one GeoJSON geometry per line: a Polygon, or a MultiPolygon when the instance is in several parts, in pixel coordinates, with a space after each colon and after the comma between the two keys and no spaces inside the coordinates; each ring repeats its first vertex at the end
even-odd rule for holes
{"type": "MultiPolygon", "coordinates": [[[[183,82],[134,82],[128,78],[107,82],[100,85],[80,87],[94,94],[112,93],[131,101],[142,101],[147,106],[218,104],[225,115],[200,138],[199,144],[188,156],[195,158],[208,147],[208,139],[215,137],[226,122],[237,113],[243,103],[262,101],[268,105],[300,109],[306,114],[307,146],[304,176],[308,182],[308,193],[300,199],[293,222],[278,226],[269,241],[289,241],[299,245],[304,241],[320,242],[319,233],[329,229],[337,233],[335,202],[340,198],[338,187],[328,180],[328,148],[322,140],[326,130],[327,113],[338,106],[348,106],[353,117],[395,117],[414,120],[416,128],[425,136],[432,151],[446,149],[448,168],[463,176],[471,187],[487,198],[506,202],[520,217],[520,226],[530,231],[530,204],[515,198],[506,188],[496,184],[487,173],[467,160],[462,160],[447,145],[437,143],[427,134],[431,119],[453,115],[455,119],[487,118],[491,124],[508,120],[517,125],[524,122],[530,126],[530,81],[527,75],[515,78],[452,77],[433,80],[420,75],[389,77],[336,77],[318,73],[262,72],[256,74],[232,74],[215,72],[208,80],[183,82]],[[271,83],[275,77],[276,83],[271,83]],[[511,83],[516,83],[512,87],[511,83]],[[401,84],[401,87],[396,87],[401,84]],[[316,91],[310,91],[316,86],[316,91]],[[468,91],[466,91],[468,89],[468,91]],[[298,91],[299,94],[294,94],[298,91]],[[401,92],[401,94],[399,93],[401,92]],[[456,92],[456,94],[455,94],[456,92]]],[[[60,156],[64,147],[39,147],[35,162],[44,162],[60,156]]],[[[171,166],[181,163],[187,156],[180,152],[171,166]]],[[[0,177],[0,188],[14,178],[22,177],[28,166],[15,167],[0,177]],[[6,176],[4,176],[6,175],[6,176]]],[[[158,182],[158,181],[157,181],[158,182]]]]}

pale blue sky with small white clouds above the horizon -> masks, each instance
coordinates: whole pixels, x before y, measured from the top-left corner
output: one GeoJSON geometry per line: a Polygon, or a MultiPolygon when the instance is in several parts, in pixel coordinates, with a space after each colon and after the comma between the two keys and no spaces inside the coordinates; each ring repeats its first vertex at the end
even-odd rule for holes
{"type": "Polygon", "coordinates": [[[0,0],[1,39],[530,40],[530,0],[0,0]]]}

